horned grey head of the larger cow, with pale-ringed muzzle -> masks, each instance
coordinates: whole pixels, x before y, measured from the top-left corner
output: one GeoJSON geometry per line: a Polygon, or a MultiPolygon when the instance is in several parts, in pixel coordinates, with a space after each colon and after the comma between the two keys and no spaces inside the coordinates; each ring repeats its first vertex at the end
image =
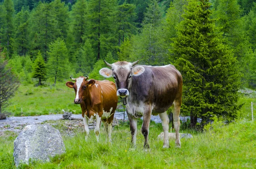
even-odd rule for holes
{"type": "MultiPolygon", "coordinates": [[[[104,60],[105,61],[105,60],[104,60]]],[[[102,68],[99,71],[103,77],[112,77],[116,82],[116,95],[120,97],[126,97],[129,95],[129,89],[131,88],[131,82],[133,76],[139,76],[143,74],[145,71],[144,67],[142,66],[134,66],[139,62],[137,60],[134,63],[126,62],[126,61],[119,61],[113,64],[110,64],[105,61],[106,65],[111,67],[102,68]]]]}

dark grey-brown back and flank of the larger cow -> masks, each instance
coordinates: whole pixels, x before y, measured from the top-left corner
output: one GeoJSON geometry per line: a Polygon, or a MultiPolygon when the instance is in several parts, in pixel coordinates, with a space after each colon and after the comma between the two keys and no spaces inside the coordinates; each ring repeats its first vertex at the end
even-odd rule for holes
{"type": "Polygon", "coordinates": [[[143,67],[145,72],[133,77],[132,102],[151,104],[152,113],[165,112],[181,98],[181,74],[173,65],[143,67]]]}

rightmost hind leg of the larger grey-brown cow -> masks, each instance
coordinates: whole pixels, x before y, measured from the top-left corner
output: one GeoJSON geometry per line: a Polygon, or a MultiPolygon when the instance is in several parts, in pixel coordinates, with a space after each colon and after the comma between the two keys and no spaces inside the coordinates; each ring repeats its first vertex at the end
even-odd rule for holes
{"type": "Polygon", "coordinates": [[[173,125],[175,129],[175,144],[180,148],[180,106],[181,103],[174,101],[172,104],[173,125]]]}

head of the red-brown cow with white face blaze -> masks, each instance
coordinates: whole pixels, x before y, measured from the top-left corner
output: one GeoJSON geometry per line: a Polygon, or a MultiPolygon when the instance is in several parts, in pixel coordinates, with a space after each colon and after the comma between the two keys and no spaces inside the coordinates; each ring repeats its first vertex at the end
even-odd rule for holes
{"type": "Polygon", "coordinates": [[[70,77],[70,79],[75,81],[75,83],[67,82],[66,86],[69,88],[75,89],[76,98],[74,99],[74,103],[80,104],[89,95],[89,87],[94,85],[95,80],[91,79],[91,80],[87,81],[88,76],[86,76],[86,77],[80,76],[76,79],[70,77]]]}

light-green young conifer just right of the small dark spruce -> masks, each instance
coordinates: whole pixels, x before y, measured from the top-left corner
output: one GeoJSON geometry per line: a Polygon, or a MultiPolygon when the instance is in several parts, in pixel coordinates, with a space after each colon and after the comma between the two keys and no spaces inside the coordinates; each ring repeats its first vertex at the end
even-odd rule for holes
{"type": "Polygon", "coordinates": [[[54,43],[49,45],[49,49],[47,74],[54,79],[54,84],[56,84],[57,80],[63,80],[68,74],[67,47],[64,40],[57,38],[54,43]]]}

